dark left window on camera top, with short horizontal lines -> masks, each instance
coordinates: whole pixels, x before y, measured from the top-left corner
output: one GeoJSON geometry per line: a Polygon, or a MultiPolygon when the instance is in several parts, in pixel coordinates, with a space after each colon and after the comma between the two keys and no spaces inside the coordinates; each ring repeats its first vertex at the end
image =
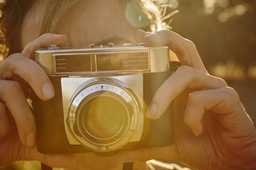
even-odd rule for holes
{"type": "Polygon", "coordinates": [[[91,55],[55,55],[56,73],[90,72],[91,55]]]}

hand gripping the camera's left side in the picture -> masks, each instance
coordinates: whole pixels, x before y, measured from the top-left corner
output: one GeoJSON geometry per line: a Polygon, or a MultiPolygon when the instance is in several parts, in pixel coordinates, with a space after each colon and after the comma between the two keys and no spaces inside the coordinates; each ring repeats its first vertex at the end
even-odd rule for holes
{"type": "Polygon", "coordinates": [[[0,63],[0,166],[20,160],[38,160],[51,167],[74,166],[73,154],[45,155],[37,151],[35,120],[23,88],[24,84],[30,85],[42,100],[54,96],[47,74],[33,60],[34,51],[66,43],[64,35],[43,34],[26,45],[22,53],[12,54],[0,63]]]}

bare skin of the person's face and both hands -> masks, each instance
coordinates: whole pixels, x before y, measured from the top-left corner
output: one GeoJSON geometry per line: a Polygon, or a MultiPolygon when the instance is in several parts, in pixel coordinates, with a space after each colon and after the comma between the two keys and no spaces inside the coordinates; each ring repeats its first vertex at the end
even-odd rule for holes
{"type": "MultiPolygon", "coordinates": [[[[163,158],[184,161],[202,170],[256,169],[255,128],[236,91],[227,87],[223,79],[207,73],[195,45],[169,30],[152,34],[136,30],[125,22],[122,10],[113,10],[113,5],[118,7],[118,3],[111,6],[106,1],[100,2],[93,1],[89,6],[85,2],[79,3],[70,9],[70,15],[56,34],[41,37],[38,32],[40,20],[37,19],[44,11],[44,1],[39,1],[26,15],[21,31],[23,51],[0,63],[0,165],[38,160],[52,167],[107,170],[117,168],[123,162],[163,158]],[[105,19],[99,22],[91,16],[105,19]],[[47,75],[33,61],[36,49],[50,44],[84,46],[116,36],[130,42],[145,42],[152,47],[168,45],[182,63],[183,66],[158,89],[146,114],[149,119],[158,119],[174,100],[175,143],[169,147],[123,151],[104,158],[91,153],[38,153],[32,112],[22,83],[13,80],[24,80],[39,98],[49,100],[54,89],[47,75]]],[[[123,6],[119,7],[122,9],[123,6]]]]}

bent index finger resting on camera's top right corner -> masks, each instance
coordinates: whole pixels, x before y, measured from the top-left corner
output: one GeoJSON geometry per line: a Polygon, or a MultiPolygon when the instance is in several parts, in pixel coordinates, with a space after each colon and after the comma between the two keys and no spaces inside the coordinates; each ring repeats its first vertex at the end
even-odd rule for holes
{"type": "Polygon", "coordinates": [[[163,29],[146,35],[144,41],[145,44],[150,47],[168,45],[169,49],[177,55],[177,58],[182,65],[188,65],[207,73],[195,44],[192,41],[181,37],[179,34],[163,29]]]}

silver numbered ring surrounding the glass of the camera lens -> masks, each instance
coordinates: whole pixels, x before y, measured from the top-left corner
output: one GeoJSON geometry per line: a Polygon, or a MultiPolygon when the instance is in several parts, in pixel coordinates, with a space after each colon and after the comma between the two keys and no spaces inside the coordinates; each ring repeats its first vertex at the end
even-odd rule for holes
{"type": "Polygon", "coordinates": [[[140,106],[135,94],[131,93],[131,91],[128,90],[128,88],[125,87],[125,85],[122,85],[122,82],[116,81],[116,79],[99,78],[94,79],[94,81],[85,82],[77,89],[70,102],[66,122],[67,127],[70,130],[70,133],[84,147],[87,147],[88,149],[97,152],[108,152],[117,150],[128,143],[129,139],[131,139],[134,132],[136,131],[139,113],[140,106]],[[127,108],[126,112],[128,112],[128,114],[131,114],[130,120],[128,121],[127,130],[125,130],[125,134],[124,136],[122,136],[122,139],[111,141],[111,143],[109,144],[100,144],[100,142],[97,140],[95,140],[96,142],[90,140],[90,136],[85,136],[85,133],[81,134],[81,125],[79,125],[77,123],[78,121],[76,121],[78,120],[77,112],[79,111],[79,105],[81,105],[85,99],[88,99],[88,97],[90,98],[90,96],[96,94],[103,95],[104,93],[107,93],[109,95],[113,94],[113,96],[118,96],[120,98],[120,102],[122,101],[125,107],[127,108]],[[80,128],[80,130],[78,127],[80,128]]]}

